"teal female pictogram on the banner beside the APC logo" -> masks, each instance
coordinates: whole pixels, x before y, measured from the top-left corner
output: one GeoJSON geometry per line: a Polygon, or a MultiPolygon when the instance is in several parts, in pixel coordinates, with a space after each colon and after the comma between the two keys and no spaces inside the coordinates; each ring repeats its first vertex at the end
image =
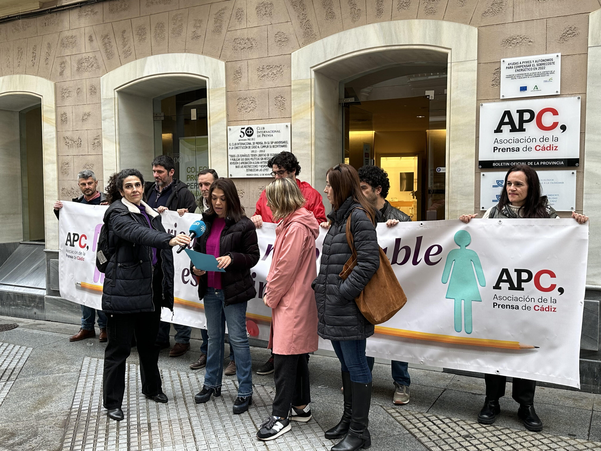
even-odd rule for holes
{"type": "Polygon", "coordinates": [[[482,301],[478,283],[481,287],[486,286],[478,254],[466,249],[471,241],[472,237],[466,230],[459,230],[455,234],[455,242],[460,249],[453,249],[448,254],[445,270],[442,273],[442,283],[447,283],[449,275],[451,275],[445,297],[455,299],[455,330],[461,332],[461,301],[465,301],[465,332],[468,334],[472,333],[472,301],[482,301]],[[453,267],[452,273],[451,266],[453,267]],[[478,282],[474,277],[474,269],[478,276],[478,282]]]}

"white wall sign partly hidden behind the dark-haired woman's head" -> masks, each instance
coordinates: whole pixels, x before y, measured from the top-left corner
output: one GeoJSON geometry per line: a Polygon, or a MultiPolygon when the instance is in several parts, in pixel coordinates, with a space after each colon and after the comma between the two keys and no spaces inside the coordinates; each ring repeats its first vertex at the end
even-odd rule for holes
{"type": "MultiPolygon", "coordinates": [[[[480,174],[480,210],[488,210],[499,203],[506,172],[480,174]]],[[[558,212],[576,209],[576,171],[537,171],[542,194],[558,212]]]]}

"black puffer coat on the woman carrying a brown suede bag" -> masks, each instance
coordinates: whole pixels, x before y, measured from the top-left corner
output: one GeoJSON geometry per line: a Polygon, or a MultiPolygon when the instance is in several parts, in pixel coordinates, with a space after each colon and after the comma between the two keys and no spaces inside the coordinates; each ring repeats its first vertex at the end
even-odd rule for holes
{"type": "Polygon", "coordinates": [[[380,267],[376,229],[364,210],[349,197],[340,209],[329,213],[332,220],[323,239],[319,274],[313,281],[317,301],[317,333],[326,340],[363,340],[373,335],[373,324],[367,321],[355,303],[368,281],[380,267]],[[346,220],[351,215],[350,231],[357,250],[357,266],[342,280],[344,263],[351,256],[346,241],[346,220]]]}

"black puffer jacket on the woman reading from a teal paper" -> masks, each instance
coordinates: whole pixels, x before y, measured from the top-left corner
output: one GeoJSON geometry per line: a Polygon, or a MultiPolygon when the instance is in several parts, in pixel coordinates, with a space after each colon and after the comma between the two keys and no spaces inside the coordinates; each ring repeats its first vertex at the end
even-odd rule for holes
{"type": "MultiPolygon", "coordinates": [[[[207,251],[207,239],[211,233],[213,220],[217,215],[203,213],[203,221],[207,230],[196,240],[194,250],[202,253],[207,251]]],[[[224,290],[225,305],[239,304],[257,296],[252,282],[250,269],[259,261],[259,245],[255,225],[246,216],[238,222],[225,218],[225,227],[219,241],[220,256],[231,257],[230,266],[221,273],[221,286],[224,290]]],[[[192,263],[190,265],[192,269],[192,263]]],[[[201,275],[198,283],[198,298],[203,299],[207,291],[209,276],[201,275]]]]}

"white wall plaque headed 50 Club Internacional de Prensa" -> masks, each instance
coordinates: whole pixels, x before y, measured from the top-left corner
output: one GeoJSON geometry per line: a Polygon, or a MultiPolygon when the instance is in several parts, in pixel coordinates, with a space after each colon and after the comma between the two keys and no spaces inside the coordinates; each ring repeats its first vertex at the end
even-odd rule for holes
{"type": "Polygon", "coordinates": [[[269,159],[290,152],[290,123],[228,127],[227,142],[230,177],[269,177],[269,159]]]}

